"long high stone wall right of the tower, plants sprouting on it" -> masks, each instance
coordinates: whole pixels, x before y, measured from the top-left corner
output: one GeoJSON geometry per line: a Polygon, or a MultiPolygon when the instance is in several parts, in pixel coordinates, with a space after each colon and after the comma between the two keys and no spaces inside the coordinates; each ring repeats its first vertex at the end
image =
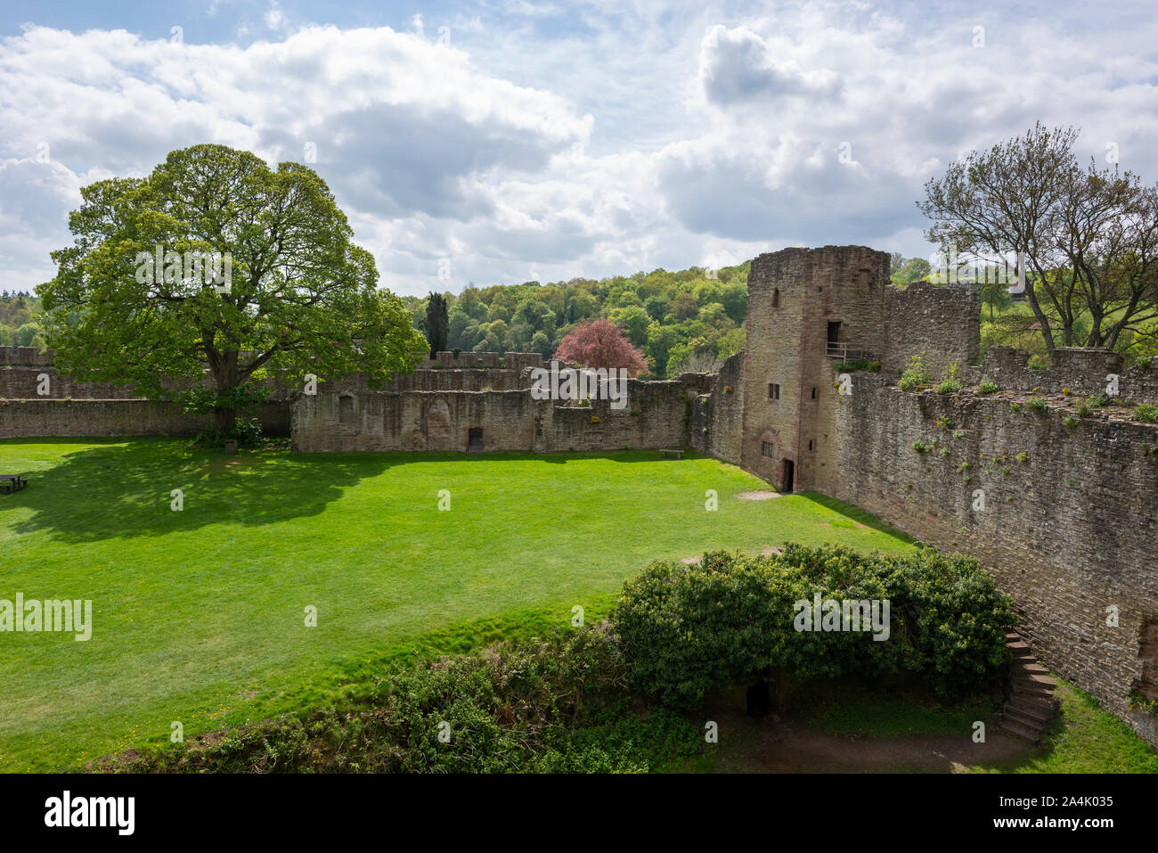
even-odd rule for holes
{"type": "Polygon", "coordinates": [[[1143,644],[1158,625],[1158,428],[1067,426],[1053,409],[871,373],[837,400],[841,476],[826,491],[991,567],[1042,662],[1158,745],[1155,717],[1127,708],[1131,691],[1158,698],[1158,648],[1143,644]]]}

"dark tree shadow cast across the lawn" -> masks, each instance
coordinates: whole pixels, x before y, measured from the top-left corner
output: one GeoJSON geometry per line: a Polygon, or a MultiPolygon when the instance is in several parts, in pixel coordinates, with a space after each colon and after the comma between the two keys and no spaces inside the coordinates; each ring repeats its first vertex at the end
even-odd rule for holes
{"type": "MultiPolygon", "coordinates": [[[[21,442],[22,445],[38,442],[21,442]]],[[[45,444],[67,444],[44,439],[45,444]]],[[[112,537],[162,535],[221,522],[263,525],[321,513],[360,480],[391,461],[379,454],[303,455],[286,451],[191,450],[185,440],[132,439],[68,453],[29,473],[29,486],[6,510],[32,516],[10,523],[16,533],[41,533],[66,542],[112,537]],[[183,493],[174,511],[171,491],[183,493]]],[[[0,496],[5,497],[5,496],[0,496]]]]}

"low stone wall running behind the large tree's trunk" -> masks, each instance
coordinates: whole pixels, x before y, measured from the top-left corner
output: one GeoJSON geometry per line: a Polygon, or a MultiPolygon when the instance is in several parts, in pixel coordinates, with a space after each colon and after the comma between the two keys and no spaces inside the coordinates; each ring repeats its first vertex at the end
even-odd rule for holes
{"type": "MultiPolygon", "coordinates": [[[[265,435],[290,435],[287,403],[242,414],[259,418],[265,435]]],[[[186,415],[177,403],[152,400],[0,401],[0,438],[195,436],[212,425],[212,415],[186,415]]]]}

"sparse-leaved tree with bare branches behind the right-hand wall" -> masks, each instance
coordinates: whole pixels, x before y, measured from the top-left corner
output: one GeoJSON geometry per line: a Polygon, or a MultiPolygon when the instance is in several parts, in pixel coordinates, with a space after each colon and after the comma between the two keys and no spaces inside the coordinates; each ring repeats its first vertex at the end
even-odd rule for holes
{"type": "Polygon", "coordinates": [[[1158,336],[1158,187],[1116,162],[1082,167],[1078,131],[1039,122],[925,184],[926,232],[946,254],[1025,258],[1026,297],[1047,350],[1121,349],[1158,336]]]}

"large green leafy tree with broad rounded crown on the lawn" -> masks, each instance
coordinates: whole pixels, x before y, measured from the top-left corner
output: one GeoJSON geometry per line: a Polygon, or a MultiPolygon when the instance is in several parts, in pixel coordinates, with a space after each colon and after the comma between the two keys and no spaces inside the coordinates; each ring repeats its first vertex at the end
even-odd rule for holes
{"type": "Polygon", "coordinates": [[[52,253],[57,276],[37,289],[64,373],[197,401],[229,429],[270,376],[379,385],[426,350],[312,169],[197,145],[81,198],[74,245],[52,253]],[[215,279],[198,268],[211,256],[215,279]]]}

